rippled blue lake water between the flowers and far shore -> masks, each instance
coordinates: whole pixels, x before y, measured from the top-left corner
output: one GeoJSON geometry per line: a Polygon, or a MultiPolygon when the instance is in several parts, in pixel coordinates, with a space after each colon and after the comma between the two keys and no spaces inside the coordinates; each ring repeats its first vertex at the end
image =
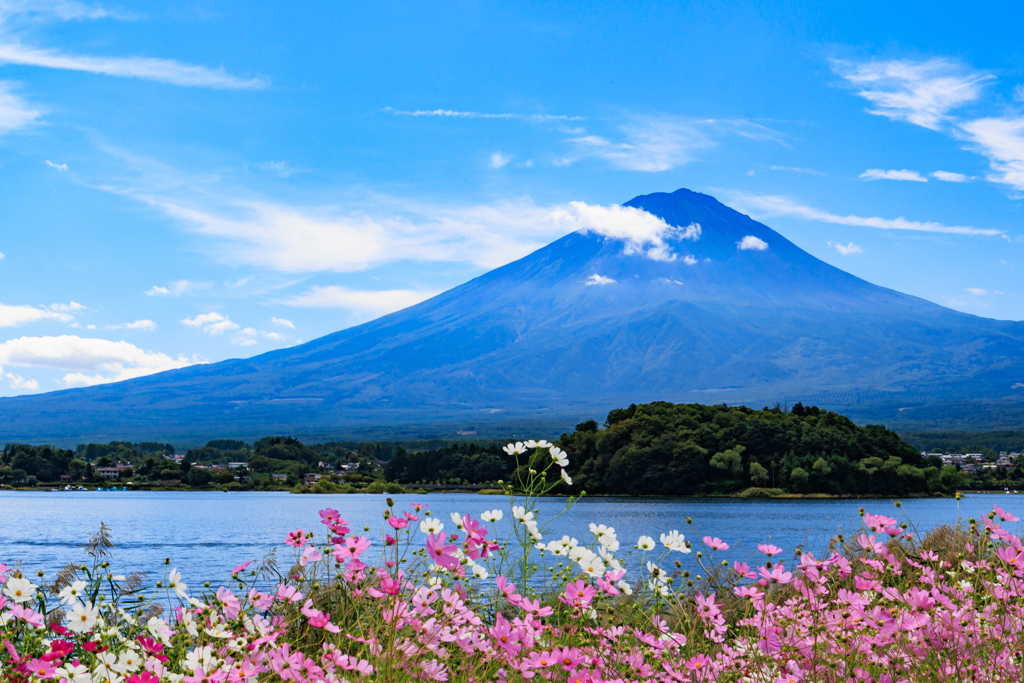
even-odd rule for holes
{"type": "MultiPolygon", "coordinates": [[[[362,533],[364,525],[369,525],[372,550],[379,552],[386,498],[288,493],[2,492],[0,562],[24,561],[27,573],[40,568],[52,572],[68,562],[83,562],[84,542],[102,521],[114,536],[112,570],[116,573],[162,573],[163,560],[169,557],[171,566],[181,570],[186,583],[195,587],[205,581],[218,585],[236,564],[258,560],[273,547],[279,548],[279,553],[291,553],[283,543],[288,531],[303,528],[321,533],[325,527],[317,512],[327,507],[339,510],[353,532],[362,533]]],[[[500,531],[507,533],[511,528],[511,514],[503,497],[429,494],[392,498],[396,509],[410,503],[429,505],[449,531],[454,527],[452,512],[475,517],[493,508],[505,513],[500,531]]],[[[970,516],[980,519],[993,504],[1024,518],[1024,497],[1016,495],[966,496],[959,503],[959,514],[965,520],[970,516]]],[[[564,505],[563,499],[542,500],[538,506],[542,523],[564,505]]],[[[860,507],[904,520],[891,500],[879,499],[592,498],[581,501],[568,515],[556,520],[546,540],[564,533],[589,542],[588,525],[593,521],[615,528],[622,544],[620,555],[624,555],[641,535],[657,540],[660,533],[678,529],[694,542],[699,536],[720,537],[731,546],[723,556],[730,560],[761,561],[757,544],[769,540],[785,551],[783,557],[792,557],[798,545],[820,552],[837,532],[849,536],[860,527],[860,507]],[[687,527],[687,516],[693,519],[692,528],[687,527]]],[[[952,499],[909,500],[903,502],[903,512],[925,531],[954,522],[957,503],[952,499]]],[[[1018,523],[1007,526],[1018,532],[1018,523]]],[[[502,539],[504,536],[500,536],[502,539]]],[[[632,572],[634,566],[625,561],[624,565],[632,572]]]]}

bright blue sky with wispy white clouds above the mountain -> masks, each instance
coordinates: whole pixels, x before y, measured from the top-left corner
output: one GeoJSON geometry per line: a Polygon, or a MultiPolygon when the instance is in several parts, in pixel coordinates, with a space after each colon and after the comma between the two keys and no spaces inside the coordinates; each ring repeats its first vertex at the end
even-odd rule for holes
{"type": "Polygon", "coordinates": [[[678,187],[1024,318],[1024,12],[774,4],[0,0],[0,395],[310,340],[678,187]]]}

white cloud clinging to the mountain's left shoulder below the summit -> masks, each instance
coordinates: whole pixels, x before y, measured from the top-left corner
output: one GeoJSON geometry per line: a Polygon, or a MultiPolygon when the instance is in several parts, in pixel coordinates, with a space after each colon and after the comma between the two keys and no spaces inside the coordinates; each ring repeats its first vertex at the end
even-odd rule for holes
{"type": "Polygon", "coordinates": [[[697,223],[686,227],[669,225],[643,209],[617,204],[604,207],[570,202],[567,208],[559,209],[554,214],[565,224],[577,226],[580,232],[622,240],[626,243],[624,252],[627,255],[639,254],[654,261],[676,260],[666,242],[669,239],[694,242],[700,239],[700,225],[697,223]]]}

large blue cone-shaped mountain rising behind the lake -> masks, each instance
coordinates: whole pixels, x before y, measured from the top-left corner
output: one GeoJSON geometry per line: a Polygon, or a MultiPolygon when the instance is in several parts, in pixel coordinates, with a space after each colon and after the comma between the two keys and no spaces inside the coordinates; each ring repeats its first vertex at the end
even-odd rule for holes
{"type": "Polygon", "coordinates": [[[707,195],[645,195],[614,211],[610,227],[301,346],[0,399],[0,437],[329,434],[598,417],[654,399],[842,408],[1024,394],[1022,323],[871,285],[707,195]]]}

